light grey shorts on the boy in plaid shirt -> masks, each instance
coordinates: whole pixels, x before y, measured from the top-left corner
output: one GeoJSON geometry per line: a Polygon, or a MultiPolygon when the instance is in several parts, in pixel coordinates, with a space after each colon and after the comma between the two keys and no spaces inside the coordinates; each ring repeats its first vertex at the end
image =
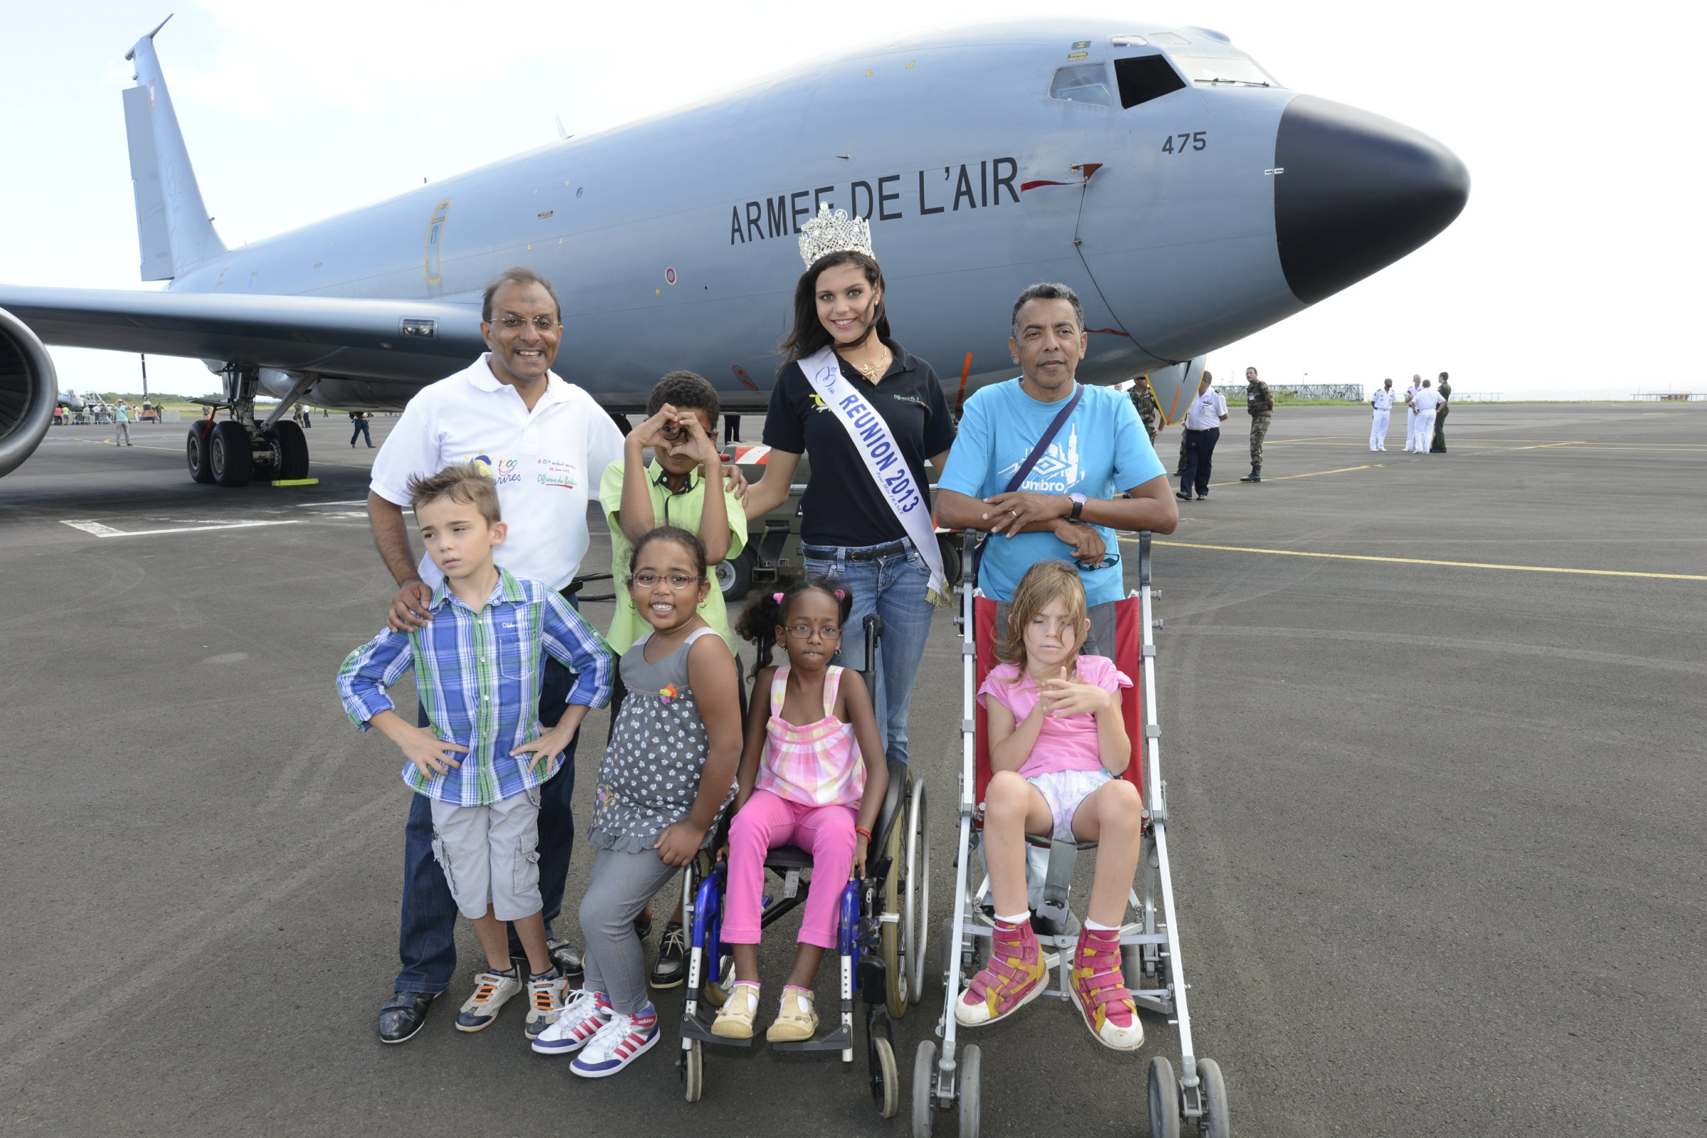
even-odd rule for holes
{"type": "Polygon", "coordinates": [[[533,916],[539,901],[539,790],[492,805],[432,800],[432,855],[468,920],[533,916]]]}

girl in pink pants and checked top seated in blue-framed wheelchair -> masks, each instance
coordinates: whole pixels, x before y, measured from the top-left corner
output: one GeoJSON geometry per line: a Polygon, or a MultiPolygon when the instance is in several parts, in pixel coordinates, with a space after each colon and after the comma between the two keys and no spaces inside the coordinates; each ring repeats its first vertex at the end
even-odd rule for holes
{"type": "Polygon", "coordinates": [[[748,706],[736,816],[729,826],[729,892],[724,943],[736,959],[736,983],[712,1032],[751,1039],[758,1017],[758,938],[765,856],[795,845],[813,855],[794,971],[782,988],[772,1042],[818,1032],[813,978],[836,943],[842,885],[865,872],[871,827],[877,824],[889,768],[865,679],[831,664],[842,647],[852,597],[823,577],[794,580],[748,604],[737,631],[758,643],[760,672],[748,706]],[[772,645],[789,662],[770,664],[772,645]],[[770,698],[760,698],[768,691],[770,698]]]}

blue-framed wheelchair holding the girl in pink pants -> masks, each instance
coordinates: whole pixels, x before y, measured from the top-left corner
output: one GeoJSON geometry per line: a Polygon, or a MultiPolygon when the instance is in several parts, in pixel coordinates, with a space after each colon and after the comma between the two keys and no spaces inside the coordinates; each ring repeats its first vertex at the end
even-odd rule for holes
{"type": "MultiPolygon", "coordinates": [[[[865,660],[876,667],[883,619],[865,618],[865,660]]],[[[872,672],[865,681],[871,684],[872,672]]],[[[754,693],[763,698],[763,693],[754,693]]],[[[725,819],[727,827],[727,819],[725,819]]],[[[865,1007],[865,1063],[877,1114],[894,1118],[901,1083],[894,1061],[894,1020],[906,1015],[925,986],[925,930],[930,909],[930,845],[925,838],[925,783],[905,763],[889,759],[884,795],[867,855],[865,877],[842,891],[835,955],[840,964],[838,1017],[828,1031],[799,1042],[773,1042],[777,1051],[838,1053],[854,1066],[855,1003],[865,1007]]],[[[765,858],[766,880],[782,882],[782,896],[766,896],[761,928],[770,928],[806,903],[813,855],[777,846],[765,858]]],[[[683,870],[683,926],[690,930],[688,983],[681,1007],[681,1051],[676,1066],[683,1094],[698,1102],[705,1090],[705,1048],[748,1048],[751,1039],[712,1034],[712,1017],[732,984],[732,959],[720,940],[729,867],[702,853],[683,870]]],[[[830,1017],[823,1017],[830,1020],[830,1017]]]]}

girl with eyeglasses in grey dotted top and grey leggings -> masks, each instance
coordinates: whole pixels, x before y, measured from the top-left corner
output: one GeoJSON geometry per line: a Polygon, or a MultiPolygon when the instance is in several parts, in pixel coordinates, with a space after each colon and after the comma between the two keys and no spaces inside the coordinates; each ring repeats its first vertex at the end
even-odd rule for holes
{"type": "Polygon", "coordinates": [[[635,918],[703,850],[734,797],[741,689],[734,655],[698,606],[712,584],[696,534],[661,525],[635,543],[628,594],[652,626],[621,657],[628,698],[599,763],[597,853],[580,928],[586,986],[533,1049],[577,1053],[572,1070],[615,1075],[659,1039],[635,918]]]}

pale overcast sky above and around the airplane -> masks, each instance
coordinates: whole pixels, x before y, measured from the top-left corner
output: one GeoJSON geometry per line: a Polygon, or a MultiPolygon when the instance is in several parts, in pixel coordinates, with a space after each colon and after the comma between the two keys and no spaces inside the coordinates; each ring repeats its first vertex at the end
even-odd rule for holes
{"type": "MultiPolygon", "coordinates": [[[[1055,5],[493,5],[205,0],[10,5],[0,31],[0,280],[142,287],[119,90],[155,46],[208,212],[256,241],[556,136],[744,85],[802,56],[1055,5]],[[603,9],[592,12],[592,9],[603,9]],[[739,15],[734,15],[739,12],[739,15]],[[857,20],[840,14],[857,12],[857,20]]],[[[1707,391],[1702,5],[1130,0],[1084,15],[1214,27],[1282,84],[1395,118],[1468,164],[1470,205],[1376,276],[1210,357],[1275,384],[1451,370],[1459,392],[1707,391]]],[[[1065,20],[1070,22],[1070,20],[1065,20]]],[[[63,387],[137,358],[53,350],[63,387]]],[[[150,358],[150,387],[213,387],[150,358]]]]}

